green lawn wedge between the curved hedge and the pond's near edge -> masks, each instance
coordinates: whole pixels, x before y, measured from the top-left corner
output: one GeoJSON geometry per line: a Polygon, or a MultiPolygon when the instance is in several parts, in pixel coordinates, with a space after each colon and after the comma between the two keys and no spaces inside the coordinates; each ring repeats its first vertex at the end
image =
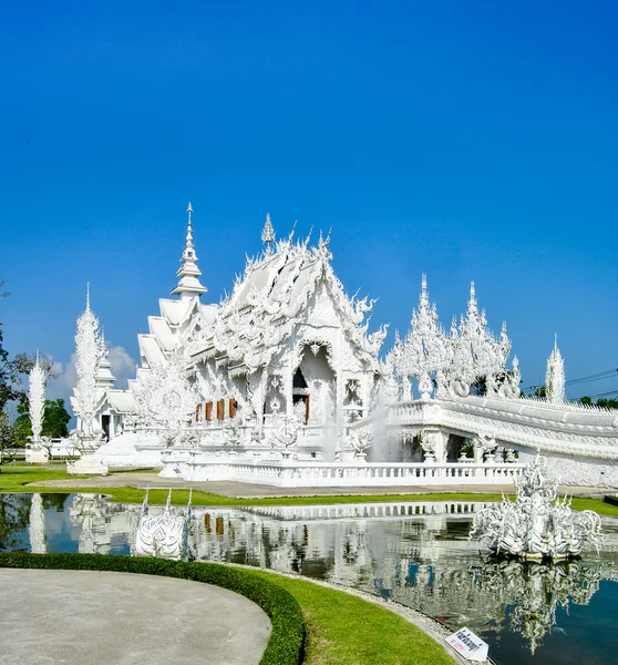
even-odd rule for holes
{"type": "Polygon", "coordinates": [[[303,665],[453,665],[442,645],[373,603],[264,571],[298,601],[307,624],[303,665]]]}

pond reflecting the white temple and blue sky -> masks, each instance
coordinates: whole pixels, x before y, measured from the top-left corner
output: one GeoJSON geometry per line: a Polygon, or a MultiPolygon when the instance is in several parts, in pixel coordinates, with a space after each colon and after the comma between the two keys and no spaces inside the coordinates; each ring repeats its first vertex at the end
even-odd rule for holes
{"type": "MultiPolygon", "coordinates": [[[[600,553],[495,562],[467,539],[483,503],[194,508],[190,556],[328,580],[472,628],[499,665],[609,664],[618,646],[618,520],[600,553]]],[[[128,554],[141,507],[99,494],[3,494],[0,550],[128,554]]],[[[151,512],[156,512],[151,507],[151,512]]],[[[161,509],[162,510],[162,509],[161,509]]],[[[183,509],[175,509],[182,512],[183,509]]]]}

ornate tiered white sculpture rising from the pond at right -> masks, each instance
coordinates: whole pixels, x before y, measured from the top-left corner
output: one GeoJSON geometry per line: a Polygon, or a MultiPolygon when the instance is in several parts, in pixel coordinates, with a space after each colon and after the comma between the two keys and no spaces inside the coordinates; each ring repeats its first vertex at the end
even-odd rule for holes
{"type": "Polygon", "coordinates": [[[585,544],[602,544],[600,518],[591,510],[571,511],[570,499],[557,499],[558,482],[547,460],[536,456],[515,478],[517,498],[484,508],[474,515],[470,538],[488,541],[496,554],[523,559],[567,559],[585,544]]]}

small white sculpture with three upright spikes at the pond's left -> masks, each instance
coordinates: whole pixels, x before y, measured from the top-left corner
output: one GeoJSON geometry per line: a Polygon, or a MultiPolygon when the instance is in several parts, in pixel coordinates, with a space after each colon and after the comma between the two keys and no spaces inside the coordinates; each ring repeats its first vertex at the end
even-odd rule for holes
{"type": "Polygon", "coordinates": [[[167,495],[162,515],[148,514],[148,491],[144,497],[142,516],[137,523],[133,554],[137,556],[163,556],[186,559],[188,526],[190,522],[190,493],[185,516],[171,514],[172,490],[167,495]]]}

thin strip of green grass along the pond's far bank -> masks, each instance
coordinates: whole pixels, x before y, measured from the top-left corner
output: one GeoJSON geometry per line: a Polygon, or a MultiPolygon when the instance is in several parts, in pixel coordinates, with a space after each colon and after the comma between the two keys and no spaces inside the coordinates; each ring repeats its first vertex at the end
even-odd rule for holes
{"type": "MultiPolygon", "coordinates": [[[[114,472],[115,474],[123,472],[114,472]]],[[[24,487],[28,483],[43,482],[45,480],[68,480],[80,477],[69,475],[63,469],[51,467],[37,467],[31,464],[7,464],[0,467],[0,492],[97,492],[110,494],[112,501],[122,503],[142,503],[145,490],[136,488],[44,488],[24,487]]],[[[82,477],[84,478],[84,477],[82,477]]],[[[293,490],[290,490],[293,491],[293,490]]],[[[152,504],[164,504],[168,490],[151,490],[148,502],[152,504]]],[[[186,504],[188,490],[174,490],[172,503],[175,505],[186,504]]],[[[444,492],[431,494],[377,494],[377,495],[349,495],[349,497],[277,497],[235,499],[222,494],[208,492],[193,492],[193,505],[209,507],[249,507],[249,505],[333,505],[341,503],[373,503],[390,501],[499,501],[502,494],[478,492],[444,492]]],[[[610,505],[600,499],[585,499],[575,497],[571,504],[574,510],[594,510],[602,515],[618,516],[618,505],[610,505]]]]}

